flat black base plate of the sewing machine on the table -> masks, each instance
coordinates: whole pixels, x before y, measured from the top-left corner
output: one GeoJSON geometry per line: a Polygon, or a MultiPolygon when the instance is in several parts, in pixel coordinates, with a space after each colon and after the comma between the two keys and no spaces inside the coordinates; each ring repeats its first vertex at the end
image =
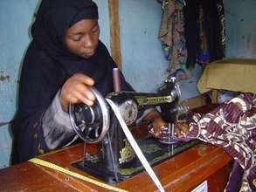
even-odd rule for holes
{"type": "MultiPolygon", "coordinates": [[[[184,150],[195,146],[200,141],[193,140],[190,142],[178,142],[176,144],[164,144],[159,142],[156,138],[147,138],[138,140],[137,142],[142,149],[142,153],[149,161],[149,164],[153,167],[170,159],[174,155],[180,154],[184,150]]],[[[129,177],[137,175],[143,170],[141,161],[135,158],[133,161],[120,166],[118,169],[119,180],[116,181],[114,171],[108,170],[102,162],[93,163],[90,161],[77,161],[72,165],[73,167],[85,171],[86,173],[110,184],[125,181],[129,177]]]]}

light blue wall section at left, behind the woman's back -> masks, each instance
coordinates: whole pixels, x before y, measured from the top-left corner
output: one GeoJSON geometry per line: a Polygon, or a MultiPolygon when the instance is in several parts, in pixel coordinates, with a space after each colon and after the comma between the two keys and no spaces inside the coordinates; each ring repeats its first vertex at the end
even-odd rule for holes
{"type": "Polygon", "coordinates": [[[29,43],[28,27],[36,4],[37,1],[32,0],[0,2],[0,168],[9,165],[8,122],[16,110],[18,71],[29,43]]]}

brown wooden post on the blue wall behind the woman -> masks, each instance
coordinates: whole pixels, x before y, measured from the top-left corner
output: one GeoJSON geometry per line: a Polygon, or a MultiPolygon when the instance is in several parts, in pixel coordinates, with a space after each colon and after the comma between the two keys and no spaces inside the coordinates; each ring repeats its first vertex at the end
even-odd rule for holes
{"type": "Polygon", "coordinates": [[[119,25],[119,0],[108,0],[110,48],[114,62],[121,69],[120,25],[119,25]]]}

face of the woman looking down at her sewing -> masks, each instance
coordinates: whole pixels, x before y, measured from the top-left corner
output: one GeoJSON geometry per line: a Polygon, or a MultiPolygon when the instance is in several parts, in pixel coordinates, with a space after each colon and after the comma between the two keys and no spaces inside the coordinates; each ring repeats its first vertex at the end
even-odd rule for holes
{"type": "Polygon", "coordinates": [[[99,35],[100,28],[98,20],[80,20],[66,31],[66,48],[68,51],[82,58],[90,58],[97,48],[99,35]]]}

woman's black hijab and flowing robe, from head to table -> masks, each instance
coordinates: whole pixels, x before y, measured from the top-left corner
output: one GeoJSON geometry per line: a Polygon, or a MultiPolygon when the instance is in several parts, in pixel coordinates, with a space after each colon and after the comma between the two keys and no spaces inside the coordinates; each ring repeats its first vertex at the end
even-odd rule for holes
{"type": "MultiPolygon", "coordinates": [[[[66,50],[66,30],[84,18],[98,18],[97,6],[90,0],[42,0],[22,67],[17,116],[12,124],[13,163],[49,151],[43,140],[42,117],[74,73],[93,78],[103,96],[114,91],[112,69],[116,65],[105,45],[99,42],[93,57],[87,59],[66,50]]],[[[122,75],[121,88],[133,91],[122,75]]],[[[72,139],[67,138],[66,143],[72,139]]]]}

